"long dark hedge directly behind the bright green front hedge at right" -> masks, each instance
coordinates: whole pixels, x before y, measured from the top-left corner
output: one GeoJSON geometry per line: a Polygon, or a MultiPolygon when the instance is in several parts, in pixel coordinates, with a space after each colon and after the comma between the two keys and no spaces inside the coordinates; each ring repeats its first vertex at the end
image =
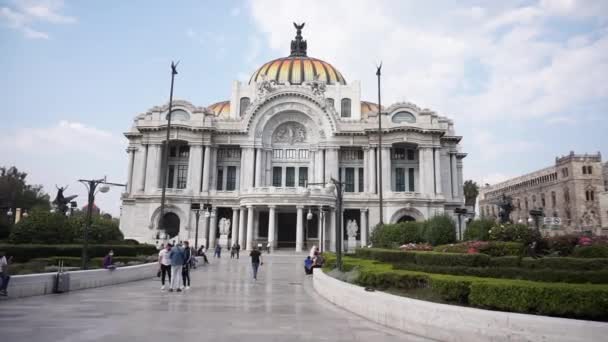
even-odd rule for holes
{"type": "Polygon", "coordinates": [[[544,282],[608,284],[608,270],[570,271],[547,268],[525,269],[519,267],[467,267],[396,264],[395,269],[426,273],[451,274],[482,278],[523,279],[544,282]]]}

